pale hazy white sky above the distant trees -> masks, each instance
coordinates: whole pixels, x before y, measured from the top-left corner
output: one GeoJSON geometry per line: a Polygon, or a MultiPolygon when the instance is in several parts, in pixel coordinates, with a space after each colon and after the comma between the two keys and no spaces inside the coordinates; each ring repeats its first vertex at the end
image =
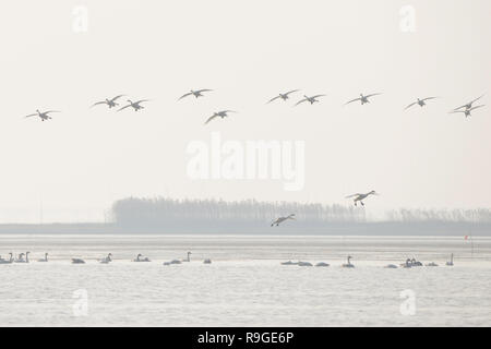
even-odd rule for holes
{"type": "Polygon", "coordinates": [[[491,103],[488,0],[94,0],[9,1],[2,55],[0,222],[101,220],[118,198],[286,200],[367,209],[491,206],[491,107],[470,119],[448,111],[491,103]],[[72,11],[88,10],[86,33],[72,11]],[[400,29],[411,5],[416,32],[400,29]],[[177,98],[213,88],[206,98],[177,98]],[[327,94],[292,108],[302,94],[327,94]],[[381,92],[370,105],[344,106],[381,92]],[[88,107],[105,97],[149,98],[142,112],[88,107]],[[439,96],[428,107],[403,108],[439,96]],[[23,119],[39,109],[61,113],[23,119]],[[239,111],[203,122],[213,111],[239,111]],[[306,184],[197,180],[192,141],[303,141],[306,184]]]}

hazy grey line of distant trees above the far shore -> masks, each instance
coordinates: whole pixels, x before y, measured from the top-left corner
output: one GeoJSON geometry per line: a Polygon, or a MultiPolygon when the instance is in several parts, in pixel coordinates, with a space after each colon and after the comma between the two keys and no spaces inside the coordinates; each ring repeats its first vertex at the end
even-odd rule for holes
{"type": "MultiPolygon", "coordinates": [[[[367,222],[364,209],[338,204],[302,204],[290,202],[259,202],[243,200],[175,200],[166,197],[128,197],[115,202],[111,219],[122,227],[169,227],[182,224],[200,225],[261,225],[277,217],[296,214],[298,222],[367,222]]],[[[399,209],[386,213],[387,222],[491,222],[491,209],[399,209]]],[[[304,226],[304,225],[302,225],[304,226]]]]}

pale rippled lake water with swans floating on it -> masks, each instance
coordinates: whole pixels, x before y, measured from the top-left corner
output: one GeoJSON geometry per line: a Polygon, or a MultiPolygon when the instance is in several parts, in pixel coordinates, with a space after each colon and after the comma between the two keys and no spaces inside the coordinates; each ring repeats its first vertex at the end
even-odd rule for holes
{"type": "Polygon", "coordinates": [[[491,238],[0,237],[2,257],[25,251],[0,265],[0,326],[491,326],[491,238]],[[439,267],[383,267],[406,257],[439,267]]]}

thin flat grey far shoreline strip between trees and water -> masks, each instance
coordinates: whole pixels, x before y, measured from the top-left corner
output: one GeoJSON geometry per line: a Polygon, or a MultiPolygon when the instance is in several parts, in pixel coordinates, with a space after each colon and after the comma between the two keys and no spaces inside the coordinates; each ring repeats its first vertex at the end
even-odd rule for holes
{"type": "Polygon", "coordinates": [[[209,221],[193,220],[169,221],[166,226],[104,222],[2,224],[0,237],[5,234],[491,237],[491,222],[296,221],[280,227],[271,227],[268,222],[219,221],[212,225],[209,221]]]}

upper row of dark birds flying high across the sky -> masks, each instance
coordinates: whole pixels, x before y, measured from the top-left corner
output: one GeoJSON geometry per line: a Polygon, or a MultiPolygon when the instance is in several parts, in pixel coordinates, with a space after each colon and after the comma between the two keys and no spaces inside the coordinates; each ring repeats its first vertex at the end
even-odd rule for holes
{"type": "MultiPolygon", "coordinates": [[[[195,98],[204,97],[205,96],[204,93],[209,93],[209,92],[213,92],[213,89],[208,89],[208,88],[191,89],[189,93],[185,93],[182,96],[180,96],[178,98],[178,100],[181,100],[181,99],[190,97],[190,96],[194,96],[195,98]]],[[[299,92],[299,89],[292,89],[292,91],[288,91],[286,93],[280,93],[276,97],[271,98],[266,104],[273,103],[273,101],[278,100],[278,99],[282,99],[282,100],[286,101],[286,100],[290,99],[290,95],[291,94],[295,94],[297,92],[299,92]]],[[[369,95],[360,94],[360,97],[357,97],[357,98],[354,98],[351,100],[348,100],[345,105],[349,105],[349,104],[356,103],[356,101],[359,101],[361,105],[369,104],[370,103],[369,98],[372,98],[372,97],[379,96],[379,95],[381,95],[381,93],[374,93],[374,94],[369,94],[369,95]]],[[[94,105],[92,105],[92,107],[100,106],[100,105],[106,105],[109,109],[118,107],[119,104],[117,103],[117,100],[119,98],[123,97],[123,96],[124,95],[118,95],[118,96],[112,97],[110,99],[106,98],[105,100],[100,100],[100,101],[95,103],[94,105]]],[[[326,95],[313,95],[313,96],[303,95],[303,98],[298,100],[294,106],[298,106],[298,105],[300,105],[302,103],[310,103],[311,105],[313,105],[313,104],[320,101],[319,98],[325,97],[325,96],[326,95]]],[[[476,99],[474,99],[474,100],[471,100],[471,101],[469,101],[469,103],[467,103],[467,104],[465,104],[465,105],[463,105],[463,106],[460,106],[460,107],[458,107],[458,108],[455,108],[455,109],[451,110],[450,113],[459,113],[459,112],[462,112],[462,113],[464,113],[464,116],[466,118],[470,117],[472,110],[484,107],[484,105],[474,106],[474,104],[476,101],[478,101],[479,99],[481,99],[482,97],[483,97],[483,95],[478,97],[478,98],[476,98],[476,99]]],[[[411,108],[412,106],[424,107],[427,105],[428,100],[435,99],[435,98],[438,98],[438,97],[417,98],[416,101],[409,104],[406,108],[404,108],[404,110],[407,110],[407,109],[411,108]]],[[[143,103],[147,103],[147,101],[149,101],[149,99],[140,99],[140,100],[136,100],[136,101],[133,101],[131,99],[127,99],[128,104],[122,106],[121,108],[118,108],[117,111],[121,111],[121,110],[124,110],[127,108],[133,108],[134,111],[139,111],[139,110],[145,108],[145,107],[142,106],[142,104],[143,103]]],[[[47,110],[47,111],[43,111],[41,112],[39,110],[36,110],[36,112],[26,116],[26,118],[39,117],[41,121],[45,121],[45,120],[51,119],[51,117],[49,115],[53,113],[53,112],[60,112],[60,111],[59,110],[47,110]]],[[[211,122],[212,120],[214,120],[216,118],[224,119],[224,118],[228,117],[228,115],[230,112],[237,112],[237,111],[233,111],[233,110],[216,111],[209,118],[207,118],[204,123],[207,124],[208,122],[211,122]]]]}

